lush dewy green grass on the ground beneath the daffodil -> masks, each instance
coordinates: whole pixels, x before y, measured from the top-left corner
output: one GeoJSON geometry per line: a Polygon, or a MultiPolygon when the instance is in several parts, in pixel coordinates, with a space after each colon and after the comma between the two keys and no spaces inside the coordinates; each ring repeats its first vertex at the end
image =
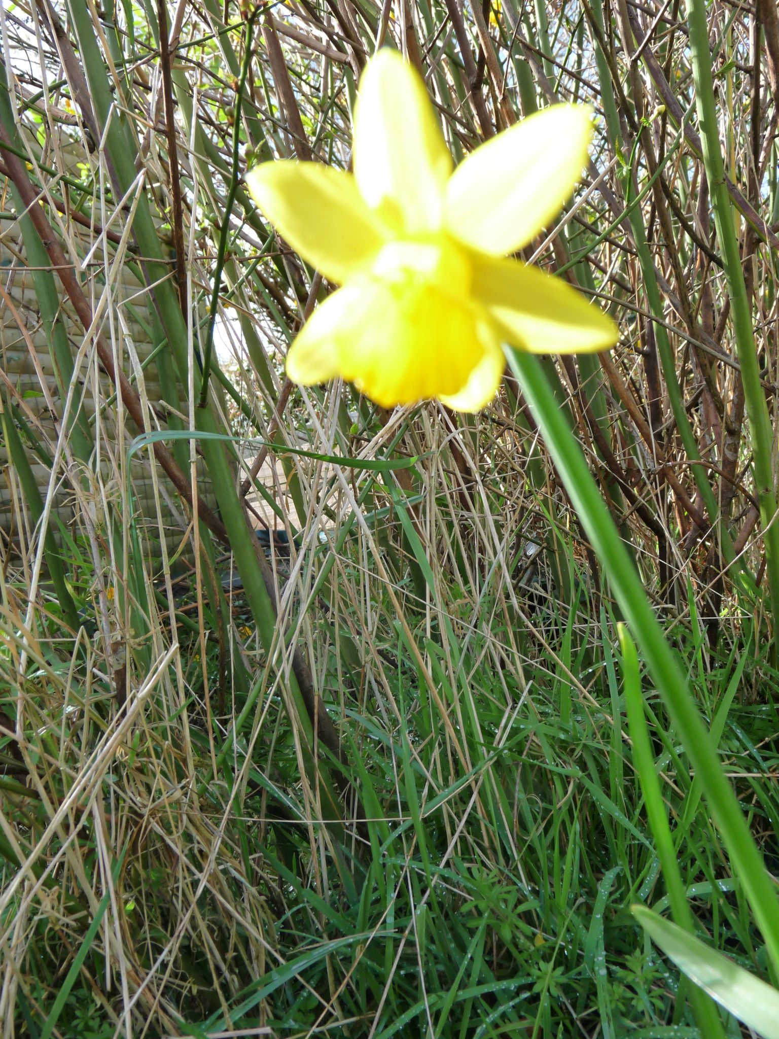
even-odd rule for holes
{"type": "MultiPolygon", "coordinates": [[[[451,632],[451,621],[438,619],[451,632]]],[[[598,1023],[612,1035],[684,1034],[657,1031],[671,1022],[697,1034],[684,1001],[676,1006],[674,973],[629,915],[632,902],[655,905],[665,889],[610,625],[581,613],[573,631],[567,651],[581,686],[560,680],[564,661],[552,654],[529,665],[525,683],[514,669],[496,681],[484,634],[471,636],[465,654],[450,634],[427,645],[434,689],[404,669],[376,694],[378,703],[347,707],[348,756],[359,763],[349,777],[368,819],[354,845],[342,850],[340,863],[325,854],[306,864],[303,827],[285,805],[289,817],[253,846],[281,888],[275,936],[297,964],[296,981],[285,983],[287,968],[269,968],[240,987],[226,1012],[188,1023],[248,1028],[263,998],[278,1034],[303,1033],[331,1019],[322,992],[334,986],[339,1014],[354,1020],[355,1034],[370,1025],[377,1036],[430,1028],[453,1036],[523,1029],[556,1036],[577,1028],[594,1034],[598,1023]],[[453,661],[459,678],[448,666],[453,661]],[[560,721],[564,698],[571,703],[567,725],[560,721]],[[335,898],[318,891],[321,869],[340,874],[335,898]]],[[[376,650],[399,652],[391,631],[385,638],[376,650]]],[[[549,649],[566,648],[563,641],[549,649]]],[[[680,649],[693,658],[694,640],[680,649]]],[[[715,714],[733,670],[732,655],[723,655],[700,675],[695,692],[704,713],[715,714]]],[[[343,692],[347,702],[355,692],[343,692]]],[[[647,710],[677,843],[683,833],[684,891],[718,945],[732,952],[735,944],[742,961],[760,970],[761,942],[727,877],[716,831],[701,811],[686,819],[693,796],[687,756],[656,697],[647,710]]],[[[756,766],[753,741],[773,730],[773,712],[736,703],[722,737],[728,771],[769,770],[765,760],[756,766]]],[[[767,827],[773,843],[769,784],[745,778],[738,785],[755,799],[753,826],[767,827]]]]}

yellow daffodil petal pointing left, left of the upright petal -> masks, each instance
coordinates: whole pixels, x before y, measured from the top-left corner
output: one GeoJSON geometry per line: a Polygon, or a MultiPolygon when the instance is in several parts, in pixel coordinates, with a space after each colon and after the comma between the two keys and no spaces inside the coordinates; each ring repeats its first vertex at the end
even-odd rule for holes
{"type": "Polygon", "coordinates": [[[386,240],[351,174],[318,162],[264,162],[246,174],[262,212],[325,277],[342,285],[386,240]]]}

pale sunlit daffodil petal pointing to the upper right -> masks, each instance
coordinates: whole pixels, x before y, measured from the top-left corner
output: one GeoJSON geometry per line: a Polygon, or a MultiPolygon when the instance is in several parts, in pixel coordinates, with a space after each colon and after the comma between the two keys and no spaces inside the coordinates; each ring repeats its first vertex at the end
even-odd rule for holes
{"type": "Polygon", "coordinates": [[[447,187],[446,224],[472,248],[506,256],[549,224],[587,164],[592,109],[554,105],[480,145],[447,187]]]}

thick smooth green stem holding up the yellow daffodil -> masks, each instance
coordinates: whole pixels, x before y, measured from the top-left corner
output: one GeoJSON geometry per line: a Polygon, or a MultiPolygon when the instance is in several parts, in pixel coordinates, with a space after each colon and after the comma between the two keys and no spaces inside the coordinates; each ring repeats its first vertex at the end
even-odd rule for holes
{"type": "Polygon", "coordinates": [[[698,712],[683,672],[652,612],[636,568],[617,532],[582,449],[560,411],[538,358],[508,351],[546,447],[580,521],[597,553],[612,591],[641,647],[649,673],[700,778],[711,816],[722,833],[774,968],[779,971],[779,903],[732,787],[720,768],[717,748],[698,712]]]}

